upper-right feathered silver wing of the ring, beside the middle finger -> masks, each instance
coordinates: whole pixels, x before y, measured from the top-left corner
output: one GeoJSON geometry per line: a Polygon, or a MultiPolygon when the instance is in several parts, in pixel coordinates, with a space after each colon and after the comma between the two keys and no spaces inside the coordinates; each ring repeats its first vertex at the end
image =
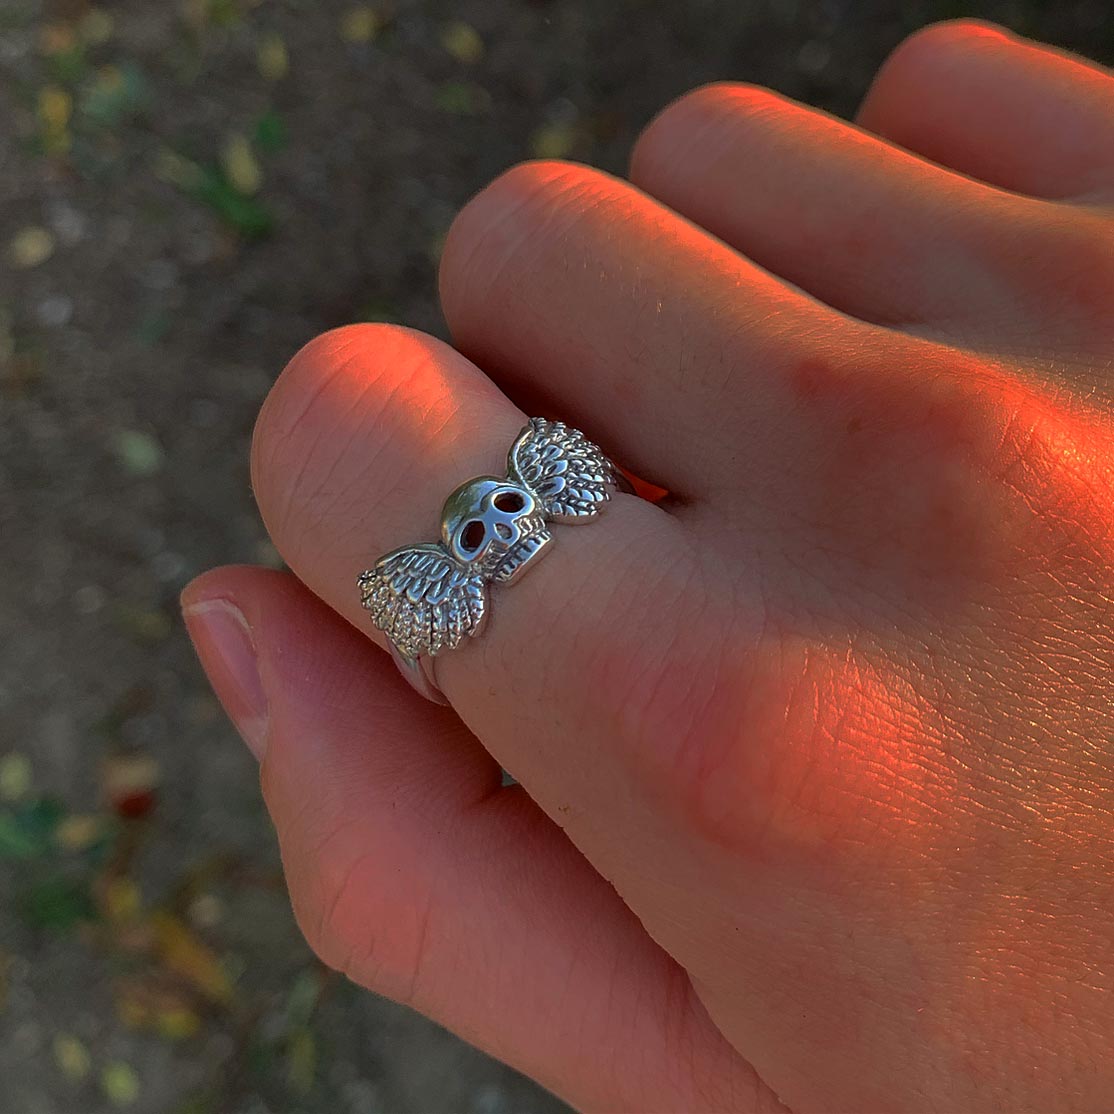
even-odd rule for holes
{"type": "Polygon", "coordinates": [[[531,418],[508,459],[511,477],[551,518],[598,515],[612,497],[615,472],[598,446],[564,422],[531,418]]]}

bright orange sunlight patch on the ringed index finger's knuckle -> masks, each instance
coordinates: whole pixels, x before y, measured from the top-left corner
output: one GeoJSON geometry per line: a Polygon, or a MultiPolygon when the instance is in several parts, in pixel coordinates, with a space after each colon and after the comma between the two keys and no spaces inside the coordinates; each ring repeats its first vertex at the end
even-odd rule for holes
{"type": "Polygon", "coordinates": [[[956,774],[942,725],[916,688],[852,651],[783,637],[740,691],[707,710],[720,731],[694,745],[682,778],[690,819],[722,847],[765,862],[831,866],[935,838],[956,774]]]}

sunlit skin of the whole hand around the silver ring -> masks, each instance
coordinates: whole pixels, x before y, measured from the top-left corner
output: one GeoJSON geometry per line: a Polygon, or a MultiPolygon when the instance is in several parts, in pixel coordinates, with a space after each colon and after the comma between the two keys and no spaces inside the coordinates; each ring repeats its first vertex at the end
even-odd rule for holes
{"type": "Polygon", "coordinates": [[[323,960],[589,1110],[1114,1106],[1114,77],[962,21],[857,125],[698,89],[629,183],[498,178],[441,297],[294,358],[294,575],[183,599],[323,960]],[[354,577],[535,412],[670,497],[434,707],[354,577]]]}

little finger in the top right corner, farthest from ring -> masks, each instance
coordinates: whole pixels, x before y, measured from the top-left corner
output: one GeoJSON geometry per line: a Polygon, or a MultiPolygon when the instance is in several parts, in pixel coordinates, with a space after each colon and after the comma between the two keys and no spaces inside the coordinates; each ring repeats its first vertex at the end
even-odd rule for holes
{"type": "Polygon", "coordinates": [[[910,36],[859,111],[871,131],[1037,197],[1114,187],[1114,76],[976,20],[910,36]]]}

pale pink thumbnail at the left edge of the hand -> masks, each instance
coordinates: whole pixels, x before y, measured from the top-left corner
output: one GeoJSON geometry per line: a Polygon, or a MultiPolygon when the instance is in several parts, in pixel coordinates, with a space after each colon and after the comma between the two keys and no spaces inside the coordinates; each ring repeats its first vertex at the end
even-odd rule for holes
{"type": "Polygon", "coordinates": [[[189,603],[183,607],[182,617],[217,700],[248,750],[262,762],[267,697],[244,613],[231,599],[215,598],[189,603]]]}

